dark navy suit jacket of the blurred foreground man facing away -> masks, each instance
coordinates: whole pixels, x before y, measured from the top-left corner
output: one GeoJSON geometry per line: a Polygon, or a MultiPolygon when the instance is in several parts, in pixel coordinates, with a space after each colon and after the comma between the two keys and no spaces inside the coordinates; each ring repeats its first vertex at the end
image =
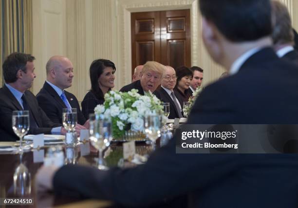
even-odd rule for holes
{"type": "MultiPolygon", "coordinates": [[[[297,79],[296,66],[262,49],[236,75],[206,87],[188,123],[297,124],[297,79]]],[[[178,136],[133,169],[64,166],[54,176],[55,192],[128,207],[182,194],[196,208],[298,207],[297,154],[178,154],[178,136]]]]}

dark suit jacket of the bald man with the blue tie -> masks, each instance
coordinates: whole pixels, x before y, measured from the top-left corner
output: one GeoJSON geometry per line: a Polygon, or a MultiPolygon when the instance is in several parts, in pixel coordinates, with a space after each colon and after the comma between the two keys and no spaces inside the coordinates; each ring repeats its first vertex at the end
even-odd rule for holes
{"type": "MultiPolygon", "coordinates": [[[[84,125],[86,118],[80,110],[80,105],[75,97],[75,95],[65,91],[67,100],[72,108],[76,108],[77,112],[77,123],[84,125]]],[[[66,108],[61,97],[56,93],[53,87],[47,82],[44,82],[43,87],[40,89],[39,93],[36,95],[38,104],[40,108],[47,114],[47,116],[55,123],[62,124],[62,109],[66,108]]]]}

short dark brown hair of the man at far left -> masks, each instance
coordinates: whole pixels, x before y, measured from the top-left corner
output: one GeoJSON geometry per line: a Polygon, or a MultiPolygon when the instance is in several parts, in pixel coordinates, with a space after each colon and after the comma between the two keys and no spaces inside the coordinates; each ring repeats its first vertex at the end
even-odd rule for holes
{"type": "Polygon", "coordinates": [[[12,53],[6,57],[2,65],[5,82],[12,83],[17,81],[18,71],[22,70],[24,73],[27,73],[27,62],[32,62],[34,60],[35,57],[31,56],[31,54],[23,54],[19,52],[12,53]]]}

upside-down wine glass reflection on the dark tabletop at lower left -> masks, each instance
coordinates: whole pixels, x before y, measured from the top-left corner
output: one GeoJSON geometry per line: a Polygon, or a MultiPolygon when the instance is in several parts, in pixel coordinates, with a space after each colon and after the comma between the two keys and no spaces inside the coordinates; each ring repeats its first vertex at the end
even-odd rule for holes
{"type": "Polygon", "coordinates": [[[14,172],[14,194],[30,195],[31,194],[31,174],[27,167],[22,163],[22,154],[19,155],[20,164],[14,172]]]}

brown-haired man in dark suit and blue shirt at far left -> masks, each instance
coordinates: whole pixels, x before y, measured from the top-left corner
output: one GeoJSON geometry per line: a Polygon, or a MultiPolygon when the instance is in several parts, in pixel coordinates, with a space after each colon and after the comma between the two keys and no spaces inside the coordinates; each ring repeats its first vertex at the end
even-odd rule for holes
{"type": "Polygon", "coordinates": [[[13,53],[2,65],[4,86],[0,89],[0,135],[1,141],[16,141],[19,137],[12,129],[12,112],[28,110],[29,134],[65,134],[60,124],[52,122],[38,106],[36,97],[28,90],[32,87],[35,57],[30,54],[13,53]],[[56,127],[56,128],[55,128],[56,127]]]}

